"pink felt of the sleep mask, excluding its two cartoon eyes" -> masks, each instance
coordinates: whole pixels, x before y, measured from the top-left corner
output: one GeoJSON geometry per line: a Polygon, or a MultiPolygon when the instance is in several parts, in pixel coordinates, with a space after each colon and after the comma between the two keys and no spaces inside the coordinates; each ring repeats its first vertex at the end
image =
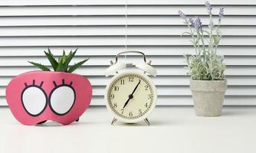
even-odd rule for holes
{"type": "MultiPolygon", "coordinates": [[[[71,124],[71,122],[77,120],[90,105],[91,97],[92,86],[89,80],[87,80],[86,77],[82,77],[74,73],[51,71],[32,71],[22,73],[18,77],[12,79],[6,88],[8,106],[18,122],[21,122],[24,125],[36,125],[38,122],[42,122],[44,120],[52,120],[63,125],[71,124]],[[25,110],[25,106],[22,102],[22,92],[25,90],[25,87],[33,84],[35,86],[41,85],[41,90],[43,90],[47,95],[46,106],[38,116],[31,116],[25,110]],[[75,100],[74,105],[66,114],[58,115],[50,108],[49,95],[54,88],[56,88],[56,85],[61,86],[63,84],[73,86],[75,91],[75,100]]],[[[61,103],[65,103],[65,99],[61,99],[60,97],[59,100],[61,100],[61,103]]],[[[33,103],[37,103],[37,101],[34,100],[33,103]]]]}

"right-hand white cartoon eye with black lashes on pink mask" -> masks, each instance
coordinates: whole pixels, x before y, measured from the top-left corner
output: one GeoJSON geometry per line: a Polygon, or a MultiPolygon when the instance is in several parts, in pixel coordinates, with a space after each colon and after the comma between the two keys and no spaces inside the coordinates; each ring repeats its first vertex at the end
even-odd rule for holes
{"type": "Polygon", "coordinates": [[[64,116],[72,109],[76,100],[76,92],[72,86],[73,82],[65,84],[64,80],[62,80],[62,84],[58,86],[55,81],[53,83],[55,87],[51,90],[49,105],[55,114],[64,116]]]}

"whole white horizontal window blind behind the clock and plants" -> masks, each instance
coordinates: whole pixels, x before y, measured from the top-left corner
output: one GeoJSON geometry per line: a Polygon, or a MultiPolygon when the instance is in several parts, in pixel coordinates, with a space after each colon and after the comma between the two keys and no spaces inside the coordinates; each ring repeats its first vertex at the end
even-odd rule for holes
{"type": "MultiPolygon", "coordinates": [[[[256,105],[256,1],[214,0],[225,5],[223,38],[219,54],[225,55],[228,90],[225,105],[256,105]]],[[[189,37],[180,37],[185,25],[177,15],[202,15],[207,23],[204,1],[196,0],[8,0],[0,2],[0,106],[5,106],[5,86],[11,78],[38,70],[27,61],[48,64],[43,50],[54,54],[79,47],[74,61],[84,55],[90,60],[77,70],[94,85],[92,105],[103,105],[109,61],[124,49],[128,23],[128,48],[143,50],[153,60],[159,76],[153,80],[159,105],[191,105],[189,78],[185,77],[182,54],[192,54],[189,37]],[[125,2],[128,19],[125,19],[125,2]]],[[[132,60],[137,57],[133,56],[132,60]]]]}

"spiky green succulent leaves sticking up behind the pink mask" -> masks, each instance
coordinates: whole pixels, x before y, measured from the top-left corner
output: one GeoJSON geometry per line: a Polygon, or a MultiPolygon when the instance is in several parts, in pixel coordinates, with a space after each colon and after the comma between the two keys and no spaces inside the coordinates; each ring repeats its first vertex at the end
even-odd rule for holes
{"type": "MultiPolygon", "coordinates": [[[[77,48],[78,49],[78,48],[77,48]]],[[[48,58],[48,60],[51,63],[51,67],[56,72],[66,72],[66,73],[73,73],[74,70],[77,70],[78,67],[82,66],[89,58],[82,60],[78,63],[74,63],[74,65],[70,66],[69,63],[73,59],[74,55],[77,53],[77,49],[74,50],[74,52],[71,50],[69,54],[65,53],[65,50],[63,50],[63,54],[61,57],[56,60],[54,58],[54,55],[51,53],[50,48],[48,48],[48,52],[44,51],[45,56],[48,58]]],[[[33,64],[35,67],[38,67],[41,70],[44,71],[51,71],[48,67],[44,66],[41,63],[34,63],[31,61],[28,61],[29,63],[33,64]]]]}

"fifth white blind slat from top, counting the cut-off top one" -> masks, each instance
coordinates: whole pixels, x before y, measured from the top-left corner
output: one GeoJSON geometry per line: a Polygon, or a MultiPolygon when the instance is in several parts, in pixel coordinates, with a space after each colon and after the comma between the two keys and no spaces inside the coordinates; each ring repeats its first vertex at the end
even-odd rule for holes
{"type": "MultiPolygon", "coordinates": [[[[256,36],[225,36],[219,46],[255,46],[256,36]]],[[[121,36],[104,37],[0,37],[0,46],[123,46],[125,38],[121,36]]],[[[207,45],[207,42],[205,42],[207,45]]],[[[130,36],[127,45],[185,45],[192,46],[189,37],[180,36],[130,36]]]]}

